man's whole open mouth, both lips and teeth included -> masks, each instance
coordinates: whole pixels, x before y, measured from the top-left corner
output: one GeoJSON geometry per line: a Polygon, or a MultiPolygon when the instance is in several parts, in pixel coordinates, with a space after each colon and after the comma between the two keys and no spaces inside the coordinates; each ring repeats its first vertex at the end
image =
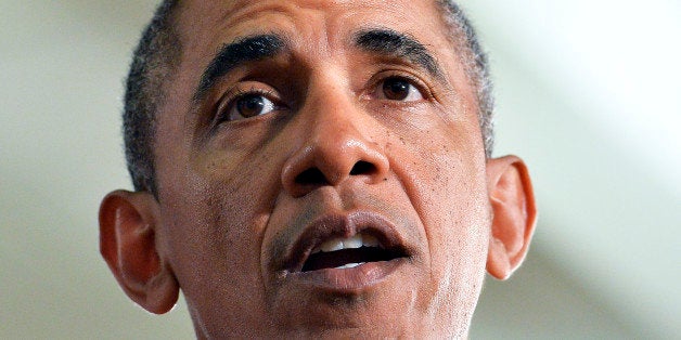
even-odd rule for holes
{"type": "MultiPolygon", "coordinates": [[[[372,211],[329,213],[305,226],[275,270],[305,291],[357,295],[407,271],[416,250],[397,227],[372,211]]],[[[283,283],[282,283],[283,284],[283,283]]],[[[293,288],[290,288],[293,289],[293,288]]]]}

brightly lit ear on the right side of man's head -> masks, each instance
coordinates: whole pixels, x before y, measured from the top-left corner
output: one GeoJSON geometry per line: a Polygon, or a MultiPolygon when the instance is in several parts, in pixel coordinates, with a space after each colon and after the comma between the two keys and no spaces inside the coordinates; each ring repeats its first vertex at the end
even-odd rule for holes
{"type": "Polygon", "coordinates": [[[525,259],[537,222],[535,194],[525,162],[515,156],[489,159],[487,187],[493,213],[487,272],[506,279],[525,259]]]}

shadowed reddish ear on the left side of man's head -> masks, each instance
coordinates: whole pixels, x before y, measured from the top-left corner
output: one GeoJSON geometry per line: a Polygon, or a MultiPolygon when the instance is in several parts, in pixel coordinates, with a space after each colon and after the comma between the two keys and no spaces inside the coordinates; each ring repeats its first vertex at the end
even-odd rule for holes
{"type": "Polygon", "coordinates": [[[108,194],[100,206],[100,252],[132,301],[163,314],[177,302],[179,285],[158,256],[158,202],[151,194],[108,194]]]}

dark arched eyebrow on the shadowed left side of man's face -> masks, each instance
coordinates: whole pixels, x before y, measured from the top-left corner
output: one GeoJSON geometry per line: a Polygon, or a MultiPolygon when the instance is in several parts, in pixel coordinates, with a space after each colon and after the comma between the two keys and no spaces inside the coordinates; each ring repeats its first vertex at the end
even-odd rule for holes
{"type": "Polygon", "coordinates": [[[285,47],[285,39],[273,34],[245,37],[223,44],[201,76],[194,102],[202,100],[215,82],[230,70],[247,62],[273,57],[285,47]]]}

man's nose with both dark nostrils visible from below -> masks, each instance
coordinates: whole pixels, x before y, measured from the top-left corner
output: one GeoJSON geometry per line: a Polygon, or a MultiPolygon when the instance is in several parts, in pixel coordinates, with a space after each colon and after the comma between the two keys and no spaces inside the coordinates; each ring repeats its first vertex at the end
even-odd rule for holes
{"type": "Polygon", "coordinates": [[[293,197],[349,180],[375,184],[389,171],[384,151],[367,138],[371,118],[338,93],[324,97],[300,112],[304,136],[282,169],[283,187],[293,197]]]}

